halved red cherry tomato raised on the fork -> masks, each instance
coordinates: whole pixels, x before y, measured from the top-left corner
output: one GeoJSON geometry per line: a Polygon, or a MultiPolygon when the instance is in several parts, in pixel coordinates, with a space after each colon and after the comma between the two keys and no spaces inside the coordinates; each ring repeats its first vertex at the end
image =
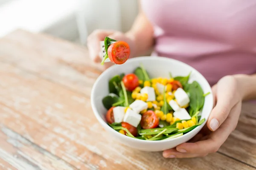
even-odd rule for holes
{"type": "Polygon", "coordinates": [[[116,64],[123,64],[130,56],[130,47],[127,42],[117,41],[108,47],[108,58],[116,64]]]}

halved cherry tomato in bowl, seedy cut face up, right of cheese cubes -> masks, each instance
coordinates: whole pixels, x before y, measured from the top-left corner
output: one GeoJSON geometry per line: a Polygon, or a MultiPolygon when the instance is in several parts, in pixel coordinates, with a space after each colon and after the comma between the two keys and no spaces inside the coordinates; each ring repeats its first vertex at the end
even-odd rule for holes
{"type": "Polygon", "coordinates": [[[142,115],[140,126],[143,129],[151,129],[157,127],[159,124],[159,119],[157,118],[156,113],[154,111],[147,111],[142,115]]]}

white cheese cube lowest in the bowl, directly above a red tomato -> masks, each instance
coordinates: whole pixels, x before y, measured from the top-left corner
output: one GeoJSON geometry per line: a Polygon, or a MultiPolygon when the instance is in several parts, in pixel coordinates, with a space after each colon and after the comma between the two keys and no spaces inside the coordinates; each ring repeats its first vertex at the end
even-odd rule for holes
{"type": "Polygon", "coordinates": [[[141,114],[138,114],[131,110],[130,108],[127,109],[124,117],[124,122],[137,127],[141,120],[141,114]]]}

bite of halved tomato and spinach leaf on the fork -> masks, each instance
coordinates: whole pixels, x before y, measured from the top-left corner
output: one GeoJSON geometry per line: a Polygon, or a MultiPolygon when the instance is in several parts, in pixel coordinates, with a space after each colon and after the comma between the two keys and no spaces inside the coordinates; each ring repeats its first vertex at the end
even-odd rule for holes
{"type": "Polygon", "coordinates": [[[104,54],[101,62],[102,65],[104,65],[108,58],[115,64],[123,64],[127,61],[131,52],[127,42],[116,41],[109,37],[105,37],[102,48],[104,54]]]}

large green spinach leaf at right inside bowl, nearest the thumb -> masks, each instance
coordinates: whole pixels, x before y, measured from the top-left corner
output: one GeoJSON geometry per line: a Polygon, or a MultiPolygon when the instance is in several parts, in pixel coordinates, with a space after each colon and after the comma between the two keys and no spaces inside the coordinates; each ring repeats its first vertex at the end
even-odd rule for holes
{"type": "Polygon", "coordinates": [[[189,94],[189,114],[193,116],[204,106],[204,92],[196,81],[187,84],[184,90],[189,94]]]}

